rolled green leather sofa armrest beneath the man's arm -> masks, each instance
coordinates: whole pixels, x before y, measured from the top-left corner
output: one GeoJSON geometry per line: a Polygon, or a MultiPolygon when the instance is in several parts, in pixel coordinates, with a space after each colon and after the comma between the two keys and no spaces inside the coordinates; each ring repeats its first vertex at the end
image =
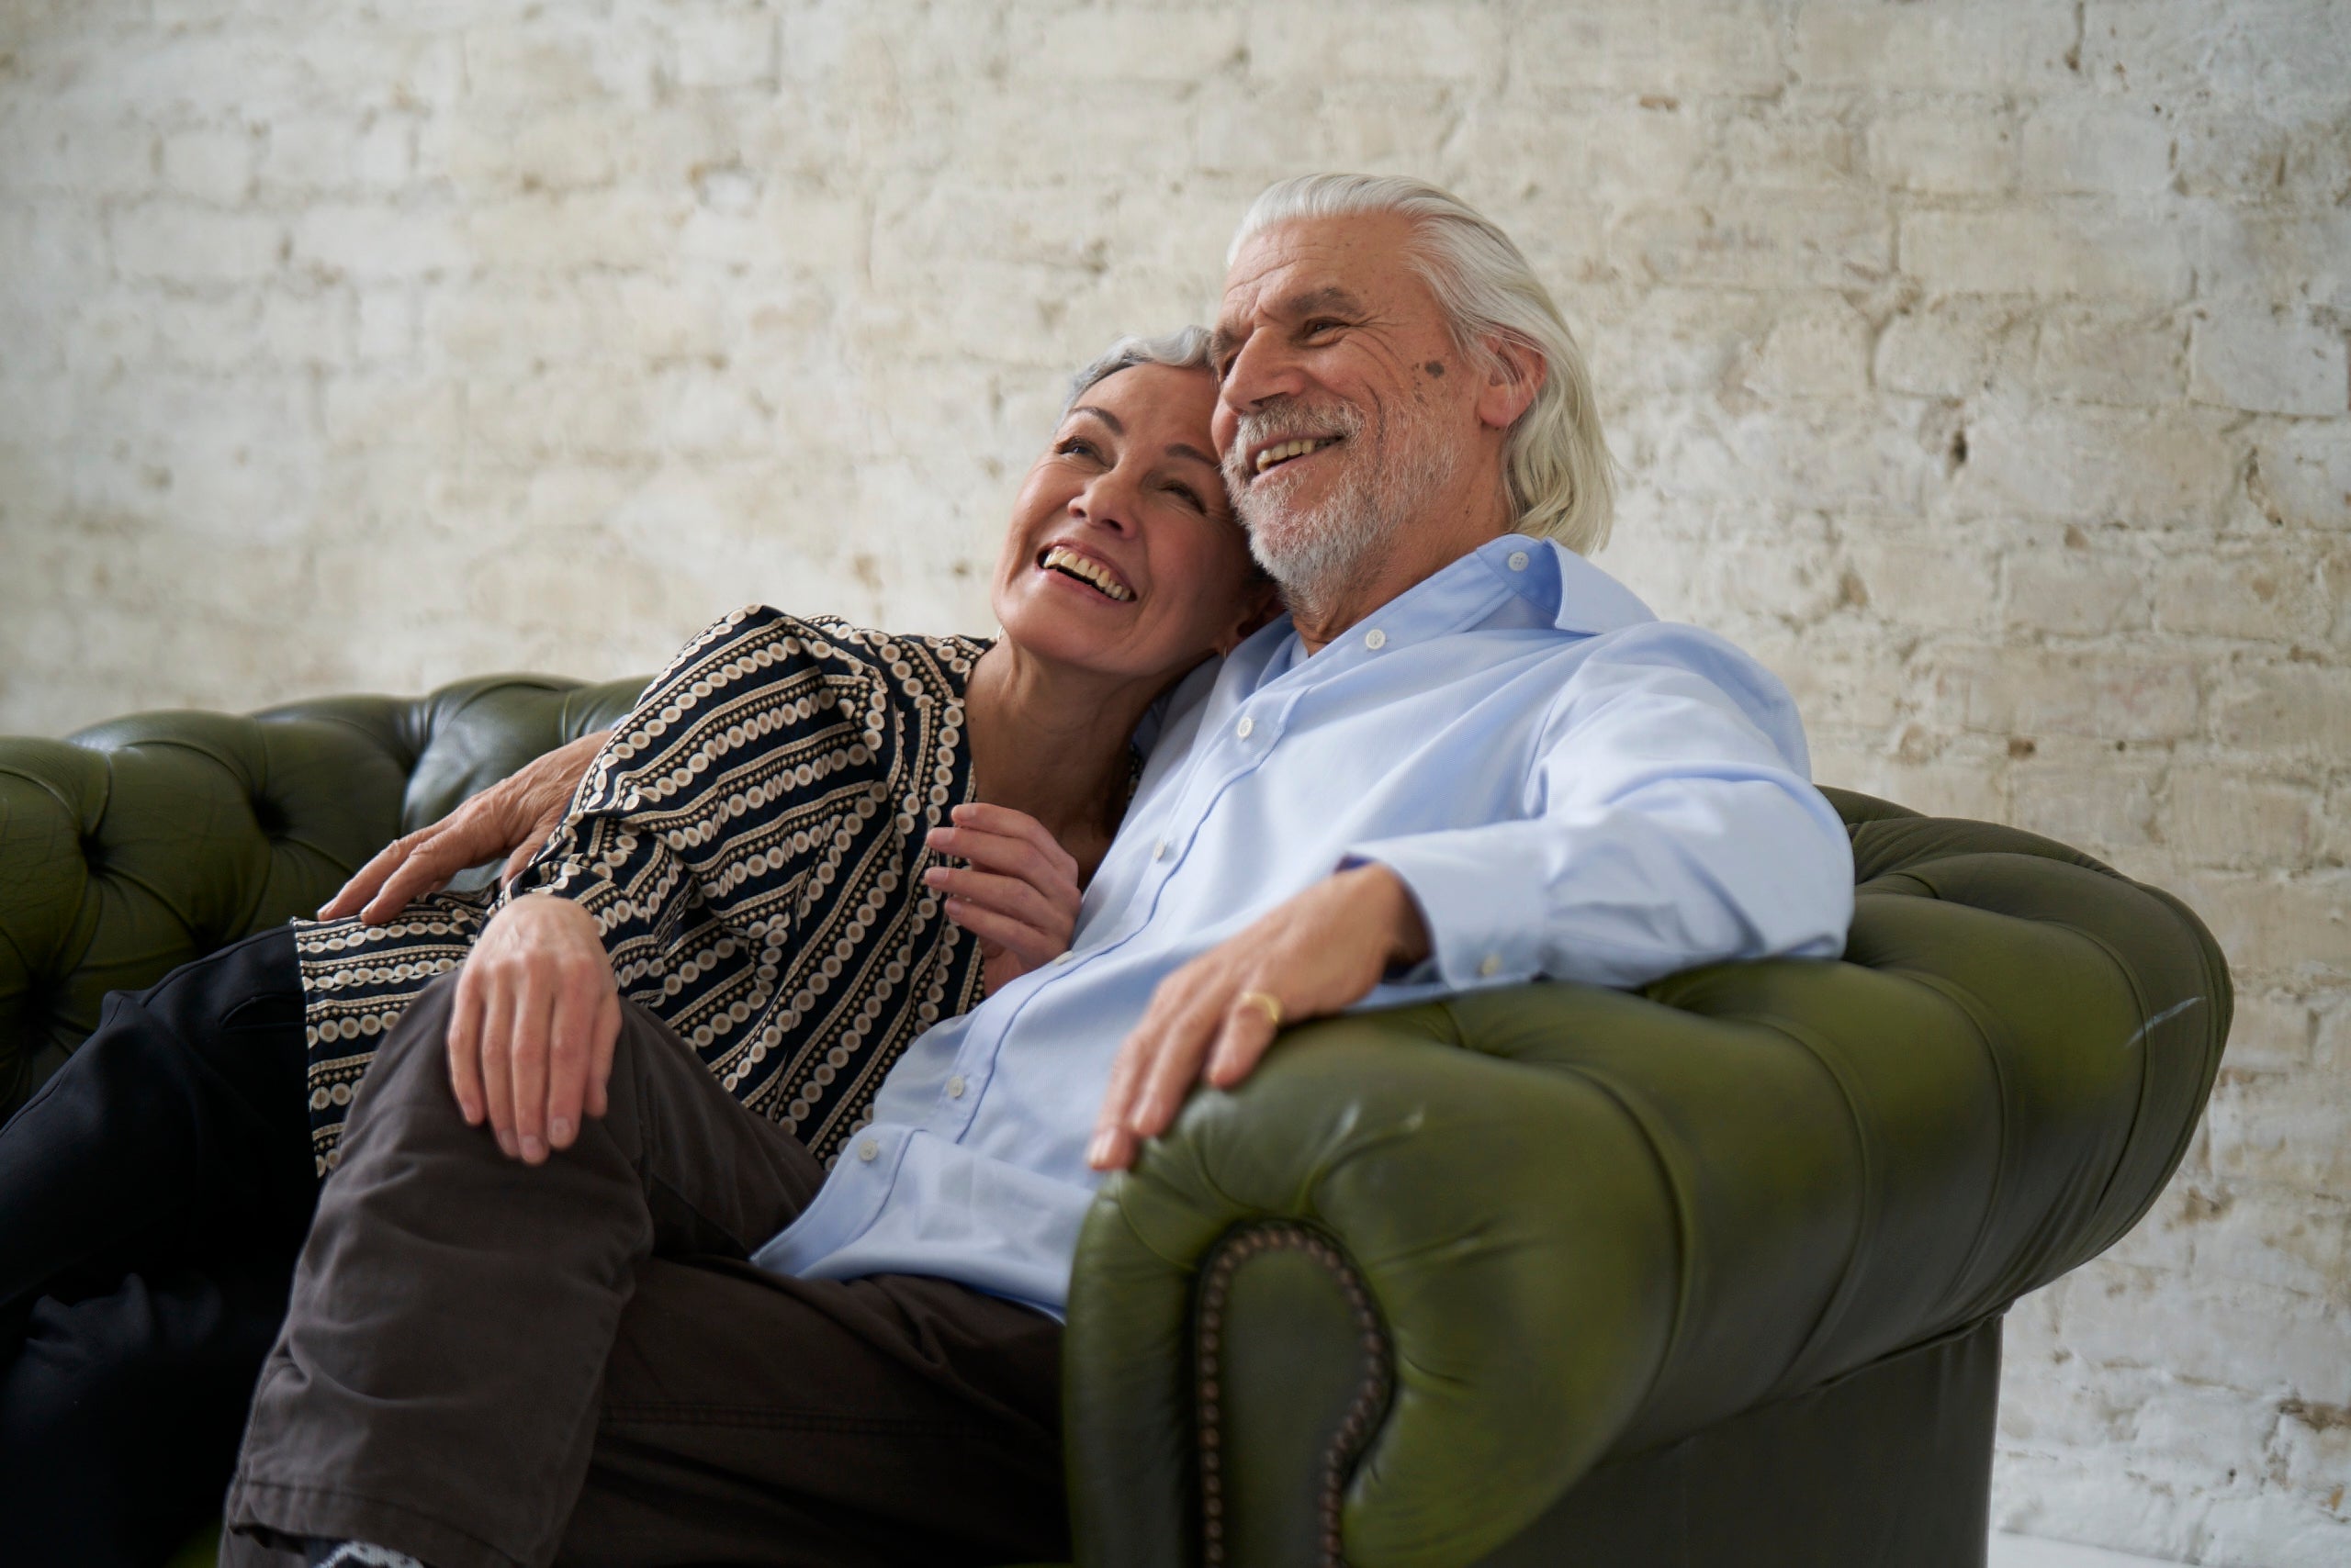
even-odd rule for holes
{"type": "MultiPolygon", "coordinates": [[[[1347,1561],[1465,1563],[1610,1455],[2109,1246],[2186,1147],[2226,1006],[2177,905],[2008,851],[1864,889],[1848,961],[1295,1030],[1089,1215],[1065,1356],[1079,1559],[1201,1556],[1199,1455],[1248,1441],[1206,1429],[1197,1387],[1199,1279],[1237,1232],[1328,1237],[1380,1326],[1385,1413],[1331,1472],[1347,1561]]],[[[1218,1333],[1279,1338],[1281,1312],[1218,1333]]]]}

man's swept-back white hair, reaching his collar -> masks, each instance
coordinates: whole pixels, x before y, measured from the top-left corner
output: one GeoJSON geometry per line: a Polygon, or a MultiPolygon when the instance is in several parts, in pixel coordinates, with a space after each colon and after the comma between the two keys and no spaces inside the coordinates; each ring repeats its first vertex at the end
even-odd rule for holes
{"type": "Polygon", "coordinates": [[[1404,174],[1302,174],[1267,186],[1232,235],[1225,266],[1258,233],[1293,219],[1340,219],[1396,212],[1413,221],[1413,270],[1429,284],[1453,327],[1453,343],[1479,369],[1493,369],[1486,339],[1500,336],[1542,355],[1542,390],[1519,414],[1502,444],[1502,468],[1521,534],[1547,534],[1589,555],[1608,543],[1615,475],[1592,371],[1575,334],[1552,303],[1535,268],[1493,219],[1436,186],[1404,174]]]}

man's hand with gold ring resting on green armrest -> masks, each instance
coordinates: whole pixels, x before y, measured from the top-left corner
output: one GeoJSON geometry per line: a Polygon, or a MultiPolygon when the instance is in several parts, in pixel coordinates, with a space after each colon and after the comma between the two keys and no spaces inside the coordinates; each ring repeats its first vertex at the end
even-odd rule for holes
{"type": "Polygon", "coordinates": [[[1232,1088],[1281,1025],[1338,1013],[1425,957],[1429,933],[1396,872],[1359,865],[1310,886],[1159,983],[1110,1067],[1086,1164],[1124,1171],[1197,1081],[1232,1088]]]}

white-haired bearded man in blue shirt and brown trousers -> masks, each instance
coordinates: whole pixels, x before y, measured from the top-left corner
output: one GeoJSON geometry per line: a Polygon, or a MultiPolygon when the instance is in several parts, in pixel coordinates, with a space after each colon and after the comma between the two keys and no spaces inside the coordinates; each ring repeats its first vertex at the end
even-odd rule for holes
{"type": "Polygon", "coordinates": [[[228,1561],[1060,1552],[1079,1220],[1201,1081],[1352,1006],[1841,950],[1787,693],[1578,555],[1606,449],[1493,223],[1274,186],[1213,355],[1291,618],[1178,689],[1074,947],[917,1039],[830,1173],[628,1009],[609,1114],[513,1168],[428,994],[322,1199],[228,1561]]]}

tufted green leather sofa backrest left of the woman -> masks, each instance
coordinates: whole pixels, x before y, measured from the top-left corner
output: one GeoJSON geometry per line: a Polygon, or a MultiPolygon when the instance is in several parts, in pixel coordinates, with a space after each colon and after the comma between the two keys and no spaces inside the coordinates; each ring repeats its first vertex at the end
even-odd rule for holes
{"type": "Polygon", "coordinates": [[[611,726],[642,689],[494,675],[0,738],[0,1117],[96,1027],[106,992],[317,910],[383,844],[611,726]]]}

